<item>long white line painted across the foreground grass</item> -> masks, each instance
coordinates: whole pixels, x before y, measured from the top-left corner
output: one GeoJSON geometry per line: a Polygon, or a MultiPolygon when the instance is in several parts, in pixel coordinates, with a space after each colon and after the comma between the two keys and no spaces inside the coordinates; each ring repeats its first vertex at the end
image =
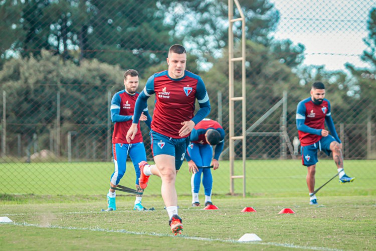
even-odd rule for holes
{"type": "Polygon", "coordinates": [[[168,237],[174,237],[174,238],[183,238],[183,239],[193,239],[193,240],[205,240],[205,241],[220,241],[220,242],[230,242],[230,243],[241,243],[241,244],[260,244],[260,245],[271,245],[271,246],[283,246],[283,247],[290,247],[290,248],[300,248],[300,249],[311,249],[311,250],[330,250],[330,251],[338,251],[340,249],[332,249],[327,247],[320,247],[320,246],[300,246],[300,245],[294,245],[291,243],[277,243],[277,242],[261,242],[261,241],[255,241],[255,242],[243,242],[238,240],[232,240],[232,239],[214,239],[214,238],[207,238],[207,237],[195,237],[195,236],[187,236],[187,235],[179,235],[174,236],[172,234],[167,233],[148,233],[148,232],[134,232],[134,231],[128,231],[125,229],[108,229],[108,228],[101,228],[101,227],[74,227],[74,226],[59,226],[59,225],[38,225],[38,224],[30,224],[27,222],[23,223],[5,223],[9,225],[18,225],[18,226],[34,226],[34,227],[45,227],[45,228],[57,228],[57,229],[68,229],[68,230],[89,230],[89,231],[97,231],[97,232],[114,232],[114,233],[127,233],[127,234],[136,234],[136,235],[149,235],[149,236],[168,236],[168,237]]]}

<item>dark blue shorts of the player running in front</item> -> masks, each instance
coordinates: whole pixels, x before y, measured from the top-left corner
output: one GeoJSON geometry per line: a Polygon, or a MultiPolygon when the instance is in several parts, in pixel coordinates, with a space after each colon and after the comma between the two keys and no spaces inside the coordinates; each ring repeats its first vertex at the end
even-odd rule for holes
{"type": "Polygon", "coordinates": [[[186,147],[190,137],[174,139],[154,131],[150,131],[151,150],[153,156],[167,154],[175,157],[175,169],[179,170],[183,163],[186,147]]]}

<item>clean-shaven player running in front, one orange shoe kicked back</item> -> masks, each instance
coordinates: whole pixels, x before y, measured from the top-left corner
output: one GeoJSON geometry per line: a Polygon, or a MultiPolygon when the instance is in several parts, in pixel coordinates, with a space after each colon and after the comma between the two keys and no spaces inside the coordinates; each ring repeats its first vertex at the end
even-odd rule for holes
{"type": "Polygon", "coordinates": [[[155,73],[136,101],[133,124],[127,133],[127,141],[135,137],[139,116],[146,107],[147,98],[155,93],[155,108],[151,122],[151,146],[155,165],[140,163],[140,186],[146,188],[150,175],[162,179],[161,194],[169,216],[169,225],[176,235],[183,228],[177,213],[176,173],[184,160],[189,136],[210,112],[209,96],[200,76],[185,70],[186,52],[181,45],[168,50],[168,70],[155,73]],[[195,101],[200,109],[194,116],[195,101]]]}

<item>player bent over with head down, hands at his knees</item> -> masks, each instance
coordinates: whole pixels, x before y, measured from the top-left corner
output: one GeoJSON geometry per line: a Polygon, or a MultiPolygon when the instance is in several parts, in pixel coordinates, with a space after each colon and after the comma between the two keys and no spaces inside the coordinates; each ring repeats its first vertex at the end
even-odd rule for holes
{"type": "Polygon", "coordinates": [[[213,205],[212,187],[213,177],[210,168],[200,168],[210,166],[213,169],[219,168],[218,159],[222,153],[225,141],[225,131],[221,124],[216,120],[204,118],[196,124],[191,133],[191,144],[187,147],[185,155],[188,161],[190,172],[192,171],[192,206],[200,206],[199,191],[201,183],[201,174],[203,174],[203,185],[205,190],[205,206],[213,205]],[[215,147],[214,158],[213,146],[215,147]]]}

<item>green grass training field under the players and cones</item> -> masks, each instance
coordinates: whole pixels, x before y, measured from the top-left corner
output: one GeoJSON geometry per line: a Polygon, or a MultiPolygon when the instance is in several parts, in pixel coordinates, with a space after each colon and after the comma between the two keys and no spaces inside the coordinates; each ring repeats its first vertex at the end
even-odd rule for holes
{"type": "MultiPolygon", "coordinates": [[[[236,174],[240,174],[240,162],[236,174]]],[[[117,208],[106,207],[112,163],[2,164],[0,167],[0,249],[314,249],[376,250],[375,161],[346,161],[351,184],[331,181],[308,204],[306,170],[298,161],[248,161],[247,196],[230,196],[228,162],[213,172],[213,201],[219,210],[191,206],[190,174],[177,177],[179,215],[184,229],[173,236],[160,197],[160,179],[151,177],[143,205],[133,211],[133,195],[117,193],[117,208]],[[257,212],[242,213],[246,206],[257,212]],[[278,214],[291,208],[295,214],[278,214]],[[262,241],[242,243],[245,233],[262,241]]],[[[316,187],[335,174],[332,161],[319,162],[316,187]]],[[[132,187],[130,163],[120,184],[132,187]]],[[[242,192],[241,180],[235,191],[242,192]]],[[[203,190],[200,192],[202,202],[203,190]]]]}

